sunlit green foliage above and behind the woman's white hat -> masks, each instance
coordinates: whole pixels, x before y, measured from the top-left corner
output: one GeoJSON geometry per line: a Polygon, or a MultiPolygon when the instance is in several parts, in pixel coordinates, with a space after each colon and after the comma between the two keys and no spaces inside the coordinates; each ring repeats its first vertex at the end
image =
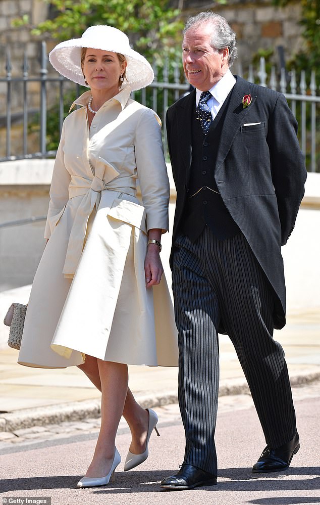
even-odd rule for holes
{"type": "MultiPolygon", "coordinates": [[[[169,0],[45,0],[55,12],[37,26],[24,16],[16,26],[28,25],[37,36],[58,41],[80,37],[88,26],[106,24],[124,31],[137,51],[146,58],[160,59],[176,54],[181,42],[183,23],[180,10],[169,0]]],[[[179,50],[180,51],[180,50],[179,50]]]]}

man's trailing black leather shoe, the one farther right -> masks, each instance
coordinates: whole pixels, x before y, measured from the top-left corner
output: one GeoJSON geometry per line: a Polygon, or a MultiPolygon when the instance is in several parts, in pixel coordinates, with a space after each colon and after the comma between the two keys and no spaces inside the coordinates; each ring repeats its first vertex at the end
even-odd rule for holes
{"type": "Polygon", "coordinates": [[[277,449],[273,449],[267,445],[263,450],[258,461],[253,465],[252,472],[262,474],[265,472],[279,472],[287,470],[291,463],[292,457],[300,449],[299,435],[295,434],[290,442],[287,442],[277,449]]]}

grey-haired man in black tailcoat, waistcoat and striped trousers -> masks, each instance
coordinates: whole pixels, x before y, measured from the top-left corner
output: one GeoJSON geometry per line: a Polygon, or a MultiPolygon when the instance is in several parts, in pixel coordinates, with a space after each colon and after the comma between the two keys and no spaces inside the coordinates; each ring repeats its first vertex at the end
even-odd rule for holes
{"type": "Polygon", "coordinates": [[[235,346],[268,444],[253,472],[285,470],[300,447],[284,352],[272,336],[285,325],[281,245],[306,178],[285,97],[230,72],[236,41],[227,21],[212,12],[190,18],[182,52],[196,89],[167,113],[186,435],[180,471],[161,483],[173,490],[217,483],[218,330],[235,346]]]}

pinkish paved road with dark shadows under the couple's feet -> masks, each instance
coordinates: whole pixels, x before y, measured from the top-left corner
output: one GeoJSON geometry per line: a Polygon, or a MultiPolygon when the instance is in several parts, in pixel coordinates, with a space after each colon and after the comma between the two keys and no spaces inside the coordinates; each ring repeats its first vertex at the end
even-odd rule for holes
{"type": "MultiPolygon", "coordinates": [[[[176,404],[157,409],[161,437],[150,439],[148,460],[131,472],[116,473],[116,483],[102,488],[76,489],[90,461],[98,420],[61,423],[20,430],[0,443],[2,498],[50,496],[52,505],[77,503],[132,505],[180,503],[215,505],[320,504],[318,425],[320,383],[293,389],[301,449],[289,471],[254,475],[250,468],[264,440],[249,395],[220,398],[217,425],[219,484],[192,491],[168,492],[158,482],[175,472],[183,458],[183,429],[176,404]]],[[[130,435],[119,427],[117,446],[125,459],[130,435]]],[[[9,503],[9,502],[7,502],[9,503]]]]}

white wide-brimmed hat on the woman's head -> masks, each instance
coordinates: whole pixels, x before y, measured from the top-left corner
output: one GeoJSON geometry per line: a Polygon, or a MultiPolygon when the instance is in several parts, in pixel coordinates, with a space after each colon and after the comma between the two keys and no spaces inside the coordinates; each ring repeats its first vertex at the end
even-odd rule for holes
{"type": "Polygon", "coordinates": [[[113,26],[90,26],[81,38],[72,38],[60,42],[49,54],[51,65],[68,79],[87,86],[81,69],[81,49],[92,48],[120,53],[126,57],[126,81],[122,87],[130,86],[134,91],[147,86],[153,81],[154,74],[149,62],[130,48],[129,38],[113,26]]]}

